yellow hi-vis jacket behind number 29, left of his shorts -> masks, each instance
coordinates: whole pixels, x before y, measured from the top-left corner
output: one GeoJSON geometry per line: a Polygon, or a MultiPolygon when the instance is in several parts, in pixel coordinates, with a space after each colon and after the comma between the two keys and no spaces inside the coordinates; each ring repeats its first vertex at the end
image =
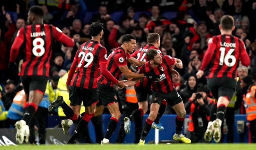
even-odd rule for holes
{"type": "MultiPolygon", "coordinates": [[[[68,71],[69,73],[69,71],[68,71]]],[[[70,100],[69,100],[69,94],[67,92],[67,79],[68,79],[68,73],[66,73],[63,77],[61,77],[58,81],[58,86],[57,86],[57,90],[56,90],[56,97],[58,97],[59,95],[61,95],[65,101],[65,103],[67,105],[70,104],[70,100]]],[[[80,109],[80,114],[85,112],[85,108],[83,107],[83,103],[81,105],[81,109],[80,109]]],[[[58,107],[58,115],[59,116],[66,116],[62,110],[61,107],[58,107]]]]}

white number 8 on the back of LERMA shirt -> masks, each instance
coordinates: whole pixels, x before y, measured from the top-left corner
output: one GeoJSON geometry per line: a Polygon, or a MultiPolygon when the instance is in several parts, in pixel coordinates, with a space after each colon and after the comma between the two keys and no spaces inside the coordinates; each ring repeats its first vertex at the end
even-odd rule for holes
{"type": "Polygon", "coordinates": [[[44,40],[42,38],[35,38],[33,40],[32,53],[37,57],[41,57],[42,55],[44,55],[44,52],[44,40]]]}

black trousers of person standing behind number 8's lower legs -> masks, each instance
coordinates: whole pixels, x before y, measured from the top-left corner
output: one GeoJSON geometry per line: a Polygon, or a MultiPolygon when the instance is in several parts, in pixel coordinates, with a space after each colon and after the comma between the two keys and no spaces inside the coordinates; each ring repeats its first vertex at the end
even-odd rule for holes
{"type": "Polygon", "coordinates": [[[39,144],[45,144],[46,139],[46,122],[47,122],[48,109],[44,107],[38,107],[34,117],[30,121],[29,124],[29,142],[31,144],[36,144],[35,137],[35,128],[34,126],[37,124],[38,127],[38,139],[39,144]]]}

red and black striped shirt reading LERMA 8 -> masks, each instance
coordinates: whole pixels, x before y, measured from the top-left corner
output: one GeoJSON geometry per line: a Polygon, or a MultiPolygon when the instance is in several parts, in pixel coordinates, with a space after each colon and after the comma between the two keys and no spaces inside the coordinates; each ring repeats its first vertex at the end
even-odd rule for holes
{"type": "Polygon", "coordinates": [[[20,75],[49,76],[50,57],[54,39],[74,46],[74,41],[55,26],[48,24],[33,24],[20,28],[11,47],[10,62],[14,62],[22,43],[25,43],[25,58],[20,75]]]}

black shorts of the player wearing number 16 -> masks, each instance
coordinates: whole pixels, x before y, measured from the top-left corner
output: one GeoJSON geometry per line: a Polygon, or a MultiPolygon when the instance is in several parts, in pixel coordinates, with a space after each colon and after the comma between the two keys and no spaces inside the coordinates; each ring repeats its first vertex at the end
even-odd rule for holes
{"type": "Polygon", "coordinates": [[[208,79],[208,87],[214,99],[225,96],[230,100],[236,91],[236,79],[229,77],[208,79]]]}

